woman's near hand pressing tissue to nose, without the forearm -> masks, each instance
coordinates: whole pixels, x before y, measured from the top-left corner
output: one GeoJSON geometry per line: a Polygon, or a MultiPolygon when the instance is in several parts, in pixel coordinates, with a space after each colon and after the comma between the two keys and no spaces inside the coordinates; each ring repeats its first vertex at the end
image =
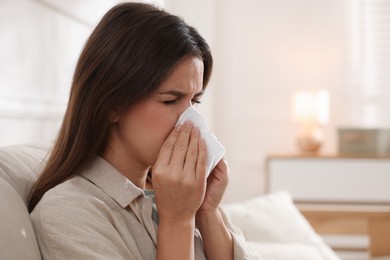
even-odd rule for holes
{"type": "Polygon", "coordinates": [[[161,221],[195,220],[206,191],[207,147],[190,122],[176,127],[153,167],[153,188],[161,221]]]}

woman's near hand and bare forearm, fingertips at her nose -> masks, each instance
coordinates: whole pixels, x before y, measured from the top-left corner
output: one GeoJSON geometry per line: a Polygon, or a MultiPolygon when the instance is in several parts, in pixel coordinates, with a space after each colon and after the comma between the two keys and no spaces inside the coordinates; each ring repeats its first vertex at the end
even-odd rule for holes
{"type": "Polygon", "coordinates": [[[206,192],[207,148],[186,122],[164,142],[153,167],[159,214],[157,259],[194,259],[195,215],[206,192]]]}

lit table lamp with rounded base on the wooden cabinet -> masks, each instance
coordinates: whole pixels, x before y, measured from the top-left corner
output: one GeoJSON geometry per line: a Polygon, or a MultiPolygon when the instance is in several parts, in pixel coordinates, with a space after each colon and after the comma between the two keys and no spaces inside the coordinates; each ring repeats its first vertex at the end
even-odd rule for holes
{"type": "Polygon", "coordinates": [[[300,124],[297,145],[300,152],[317,153],[324,141],[321,125],[328,123],[329,93],[325,89],[299,90],[293,95],[293,120],[300,124]]]}

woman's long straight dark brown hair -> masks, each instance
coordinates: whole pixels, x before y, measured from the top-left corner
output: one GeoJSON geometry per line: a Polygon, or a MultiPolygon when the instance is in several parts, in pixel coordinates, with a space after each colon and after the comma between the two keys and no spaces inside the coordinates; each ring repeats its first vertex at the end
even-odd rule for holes
{"type": "Polygon", "coordinates": [[[88,38],[68,107],[46,167],[32,190],[31,212],[46,191],[80,173],[106,148],[110,114],[151,95],[186,56],[203,60],[203,88],[213,60],[196,29],[155,6],[114,6],[88,38]]]}

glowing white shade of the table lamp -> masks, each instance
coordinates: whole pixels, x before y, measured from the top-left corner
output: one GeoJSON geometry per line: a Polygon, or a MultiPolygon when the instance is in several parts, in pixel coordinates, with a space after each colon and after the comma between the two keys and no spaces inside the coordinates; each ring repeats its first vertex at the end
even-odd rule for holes
{"type": "Polygon", "coordinates": [[[293,120],[299,123],[327,124],[329,93],[325,89],[299,90],[293,95],[293,120]]]}

